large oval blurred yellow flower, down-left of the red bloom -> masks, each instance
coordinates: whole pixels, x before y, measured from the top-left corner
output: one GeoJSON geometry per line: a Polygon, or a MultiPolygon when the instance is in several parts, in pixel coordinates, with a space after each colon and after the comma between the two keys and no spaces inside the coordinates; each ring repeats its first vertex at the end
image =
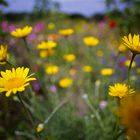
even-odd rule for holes
{"type": "Polygon", "coordinates": [[[93,46],[98,45],[99,40],[98,40],[98,38],[96,38],[96,37],[88,36],[88,37],[85,37],[85,38],[83,39],[83,42],[84,42],[84,44],[85,44],[86,46],[93,47],[93,46]]]}

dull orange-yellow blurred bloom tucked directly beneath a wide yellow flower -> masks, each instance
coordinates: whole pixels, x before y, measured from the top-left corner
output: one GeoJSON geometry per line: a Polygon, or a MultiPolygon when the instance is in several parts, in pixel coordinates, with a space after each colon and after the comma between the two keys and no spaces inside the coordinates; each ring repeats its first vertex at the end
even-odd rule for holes
{"type": "Polygon", "coordinates": [[[39,52],[39,56],[41,58],[46,58],[46,57],[51,56],[53,54],[54,54],[54,50],[53,49],[40,50],[40,52],[39,52]]]}

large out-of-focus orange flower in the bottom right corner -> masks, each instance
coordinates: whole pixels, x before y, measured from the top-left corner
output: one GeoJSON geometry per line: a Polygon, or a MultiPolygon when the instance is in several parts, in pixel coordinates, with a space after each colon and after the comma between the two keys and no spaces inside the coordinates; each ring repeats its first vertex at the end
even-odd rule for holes
{"type": "Polygon", "coordinates": [[[121,123],[127,130],[129,140],[140,138],[140,94],[121,100],[119,107],[121,123]]]}

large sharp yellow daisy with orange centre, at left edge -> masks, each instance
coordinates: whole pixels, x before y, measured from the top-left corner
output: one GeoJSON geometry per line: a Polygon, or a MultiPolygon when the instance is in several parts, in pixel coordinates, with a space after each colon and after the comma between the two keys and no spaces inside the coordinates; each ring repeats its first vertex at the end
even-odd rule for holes
{"type": "Polygon", "coordinates": [[[6,92],[6,96],[10,96],[11,93],[16,94],[22,92],[25,87],[29,85],[29,81],[36,80],[31,75],[27,76],[29,68],[18,67],[12,68],[12,70],[6,70],[0,72],[0,92],[6,92]]]}

